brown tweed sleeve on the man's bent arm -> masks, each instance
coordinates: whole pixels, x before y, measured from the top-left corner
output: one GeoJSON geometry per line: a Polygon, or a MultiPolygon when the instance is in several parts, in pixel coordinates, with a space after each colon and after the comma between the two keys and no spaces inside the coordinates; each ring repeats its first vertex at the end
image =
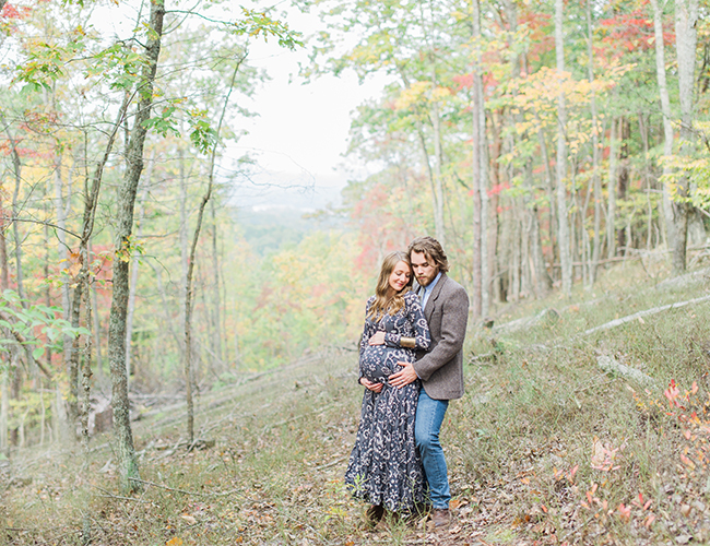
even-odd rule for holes
{"type": "Polygon", "coordinates": [[[442,302],[441,339],[429,353],[414,363],[414,371],[427,381],[441,366],[450,361],[463,347],[469,321],[469,295],[458,286],[442,302]]]}

